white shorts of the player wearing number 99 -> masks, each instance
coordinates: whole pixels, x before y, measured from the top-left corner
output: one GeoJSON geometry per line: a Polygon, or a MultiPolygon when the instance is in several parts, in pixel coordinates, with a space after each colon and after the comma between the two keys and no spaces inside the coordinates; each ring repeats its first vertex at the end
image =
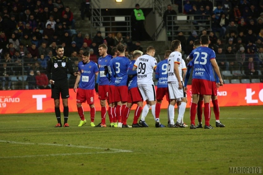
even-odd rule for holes
{"type": "Polygon", "coordinates": [[[153,84],[137,84],[137,86],[143,97],[143,101],[155,101],[155,88],[153,84]]]}

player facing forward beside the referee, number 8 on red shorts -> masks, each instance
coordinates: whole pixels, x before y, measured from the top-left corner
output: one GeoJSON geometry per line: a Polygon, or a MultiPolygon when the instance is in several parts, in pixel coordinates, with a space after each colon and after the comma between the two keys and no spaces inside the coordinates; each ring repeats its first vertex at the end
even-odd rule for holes
{"type": "Polygon", "coordinates": [[[90,125],[94,126],[95,117],[95,107],[94,107],[94,86],[95,79],[98,77],[98,65],[93,61],[90,61],[90,52],[84,51],[82,54],[82,61],[78,63],[78,75],[74,85],[74,92],[76,92],[77,85],[79,83],[79,88],[77,90],[77,112],[81,119],[79,122],[79,127],[86,124],[86,119],[84,116],[84,110],[82,103],[87,103],[90,105],[90,125]],[[96,77],[96,78],[95,78],[96,77]]]}

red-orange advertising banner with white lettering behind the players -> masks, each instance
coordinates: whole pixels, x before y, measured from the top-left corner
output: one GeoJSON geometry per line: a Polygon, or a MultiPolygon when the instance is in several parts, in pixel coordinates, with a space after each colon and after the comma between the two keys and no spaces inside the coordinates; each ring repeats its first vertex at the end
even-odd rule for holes
{"type": "MultiPolygon", "coordinates": [[[[191,105],[191,85],[188,87],[187,108],[191,105]]],[[[95,93],[95,92],[94,92],[95,93]]],[[[76,93],[69,89],[69,112],[77,112],[76,93]]],[[[95,93],[96,94],[96,93],[95,93]]],[[[219,106],[263,105],[263,83],[225,84],[218,90],[219,106]]],[[[88,104],[82,104],[90,111],[88,104]]],[[[168,102],[163,100],[161,108],[167,109],[168,102]]],[[[211,103],[211,106],[212,103],[211,103]]],[[[98,95],[95,95],[95,108],[100,111],[98,95]]],[[[132,109],[135,109],[133,105],[132,109]]],[[[0,114],[54,112],[54,100],[51,90],[10,90],[0,91],[0,114]]],[[[63,105],[61,100],[61,111],[63,105]]]]}

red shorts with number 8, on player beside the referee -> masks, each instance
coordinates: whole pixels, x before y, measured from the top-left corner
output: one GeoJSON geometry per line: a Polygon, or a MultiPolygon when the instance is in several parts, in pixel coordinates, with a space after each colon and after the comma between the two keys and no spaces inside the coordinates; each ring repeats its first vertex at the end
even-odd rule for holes
{"type": "Polygon", "coordinates": [[[94,104],[94,89],[77,89],[77,103],[94,104]]]}

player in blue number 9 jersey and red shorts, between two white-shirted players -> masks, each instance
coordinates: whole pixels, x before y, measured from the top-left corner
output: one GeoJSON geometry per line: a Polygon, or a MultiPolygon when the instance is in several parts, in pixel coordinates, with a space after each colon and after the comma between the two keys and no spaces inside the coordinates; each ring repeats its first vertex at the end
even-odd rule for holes
{"type": "MultiPolygon", "coordinates": [[[[156,91],[156,106],[155,106],[155,116],[156,118],[159,118],[160,116],[160,111],[161,111],[161,103],[163,100],[163,97],[166,96],[166,100],[169,102],[170,104],[170,99],[169,99],[169,92],[168,92],[168,84],[167,84],[167,79],[168,79],[168,75],[167,75],[167,66],[168,66],[168,58],[169,55],[172,53],[172,51],[167,50],[165,51],[165,55],[164,55],[164,60],[162,60],[161,62],[159,62],[157,64],[157,68],[155,71],[155,78],[158,80],[157,83],[157,91],[156,91]]],[[[169,107],[168,104],[168,107],[169,107]]],[[[167,107],[167,109],[168,109],[167,107]]],[[[167,112],[168,114],[168,121],[169,121],[169,112],[167,112]]]]}

